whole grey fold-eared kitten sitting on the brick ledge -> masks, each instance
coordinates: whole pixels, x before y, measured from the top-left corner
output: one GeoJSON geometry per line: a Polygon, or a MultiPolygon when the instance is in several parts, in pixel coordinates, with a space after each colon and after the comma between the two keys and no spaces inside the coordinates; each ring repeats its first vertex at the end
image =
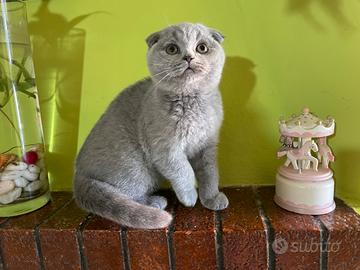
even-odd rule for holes
{"type": "Polygon", "coordinates": [[[223,36],[201,24],[169,26],[150,35],[151,78],[122,91],[86,139],[76,161],[80,207],[135,228],[161,228],[172,216],[152,195],[163,178],[179,201],[227,207],[219,192],[216,145],[223,119],[218,85],[223,36]]]}

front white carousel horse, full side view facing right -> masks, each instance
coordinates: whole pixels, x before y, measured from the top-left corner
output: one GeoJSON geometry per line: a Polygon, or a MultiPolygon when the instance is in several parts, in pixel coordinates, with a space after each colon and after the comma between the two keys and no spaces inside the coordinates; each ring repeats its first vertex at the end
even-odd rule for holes
{"type": "Polygon", "coordinates": [[[319,151],[319,148],[317,144],[311,140],[304,143],[304,145],[300,149],[291,149],[288,151],[283,151],[278,153],[278,156],[285,156],[287,157],[287,160],[285,162],[285,166],[288,167],[290,163],[294,167],[295,170],[299,170],[299,166],[297,164],[297,161],[300,160],[309,160],[313,163],[313,169],[314,171],[318,170],[318,160],[311,155],[311,151],[317,152],[319,151]]]}

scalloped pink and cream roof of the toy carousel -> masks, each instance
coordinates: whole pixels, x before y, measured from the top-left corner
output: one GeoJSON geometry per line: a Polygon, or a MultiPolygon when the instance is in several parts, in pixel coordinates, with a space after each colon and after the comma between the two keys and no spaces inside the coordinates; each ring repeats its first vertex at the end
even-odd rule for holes
{"type": "Polygon", "coordinates": [[[335,121],[328,116],[325,120],[304,108],[300,115],[292,115],[288,120],[280,120],[280,133],[289,137],[319,138],[334,134],[335,121]]]}

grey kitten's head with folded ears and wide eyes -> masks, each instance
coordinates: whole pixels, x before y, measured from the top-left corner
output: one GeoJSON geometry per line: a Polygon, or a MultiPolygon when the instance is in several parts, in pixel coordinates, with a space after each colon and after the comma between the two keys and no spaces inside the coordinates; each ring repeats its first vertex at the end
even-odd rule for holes
{"type": "Polygon", "coordinates": [[[216,86],[225,62],[223,40],[217,30],[192,23],[151,34],[147,62],[154,84],[174,91],[216,86]]]}

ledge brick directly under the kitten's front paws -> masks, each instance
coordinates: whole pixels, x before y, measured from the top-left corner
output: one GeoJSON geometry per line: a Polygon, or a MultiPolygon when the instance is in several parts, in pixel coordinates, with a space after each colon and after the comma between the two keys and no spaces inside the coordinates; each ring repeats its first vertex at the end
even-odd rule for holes
{"type": "Polygon", "coordinates": [[[173,244],[176,270],[216,269],[215,212],[199,202],[192,208],[179,205],[173,244]]]}

